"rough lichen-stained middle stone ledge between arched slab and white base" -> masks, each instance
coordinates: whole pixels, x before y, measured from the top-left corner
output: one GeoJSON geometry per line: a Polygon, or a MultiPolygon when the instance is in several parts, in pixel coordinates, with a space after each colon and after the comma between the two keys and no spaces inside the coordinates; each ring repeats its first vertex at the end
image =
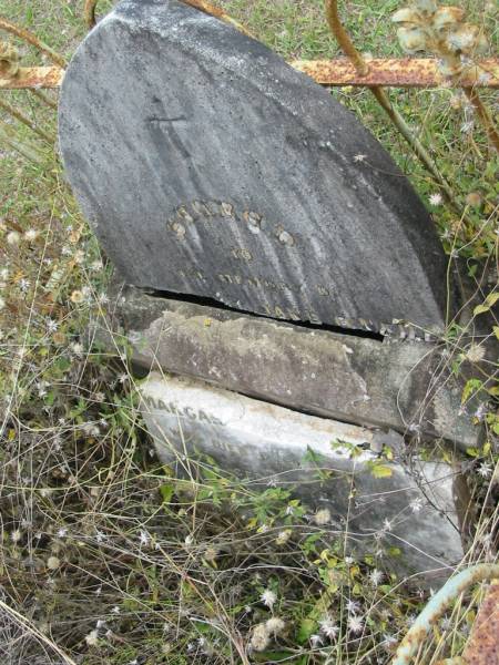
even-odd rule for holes
{"type": "Polygon", "coordinates": [[[464,382],[441,345],[297,327],[146,296],[118,279],[109,295],[109,329],[126,337],[146,371],[200,378],[345,422],[444,437],[464,450],[482,433],[471,422],[473,405],[461,409],[464,382]]]}

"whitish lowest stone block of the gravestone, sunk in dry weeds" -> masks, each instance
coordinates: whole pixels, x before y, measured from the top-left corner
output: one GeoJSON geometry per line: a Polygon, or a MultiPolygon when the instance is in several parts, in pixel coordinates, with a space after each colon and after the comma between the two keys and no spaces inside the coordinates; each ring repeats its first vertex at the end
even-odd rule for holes
{"type": "MultiPolygon", "coordinates": [[[[208,454],[217,464],[262,485],[289,487],[313,509],[328,508],[333,534],[350,551],[397,546],[387,565],[410,574],[448,575],[462,557],[454,492],[456,471],[447,463],[413,459],[389,464],[375,478],[373,432],[221,390],[202,381],[152,374],[141,387],[142,412],[157,452],[177,471],[208,454]],[[315,462],[306,461],[309,450],[315,462]],[[317,468],[332,471],[318,480],[317,468]],[[345,533],[347,532],[347,535],[345,533]]],[[[386,439],[389,444],[389,439],[386,439]]],[[[429,577],[425,576],[428,582],[429,577]]]]}

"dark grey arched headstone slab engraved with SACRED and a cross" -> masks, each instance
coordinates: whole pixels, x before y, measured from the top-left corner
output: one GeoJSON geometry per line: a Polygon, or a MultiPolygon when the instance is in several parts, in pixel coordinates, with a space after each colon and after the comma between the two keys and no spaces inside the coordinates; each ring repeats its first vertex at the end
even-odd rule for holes
{"type": "Polygon", "coordinates": [[[329,92],[181,2],[121,2],[64,78],[69,181],[130,284],[273,318],[445,324],[421,202],[329,92]]]}

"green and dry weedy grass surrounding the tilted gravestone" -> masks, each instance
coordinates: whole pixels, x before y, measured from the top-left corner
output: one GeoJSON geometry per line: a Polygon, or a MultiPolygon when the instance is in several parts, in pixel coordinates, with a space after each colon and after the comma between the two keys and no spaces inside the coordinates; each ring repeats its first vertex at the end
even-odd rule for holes
{"type": "MultiPolygon", "coordinates": [[[[69,58],[85,34],[81,4],[0,0],[0,16],[69,58]]],[[[100,12],[111,4],[100,3],[100,12]]],[[[396,0],[343,4],[361,51],[400,54],[388,20],[396,0]]],[[[493,3],[462,4],[497,44],[493,3]]],[[[338,55],[319,0],[220,6],[286,59],[338,55]]],[[[32,49],[21,49],[24,63],[39,62],[32,49]]],[[[37,98],[0,94],[55,135],[55,114],[37,98]]],[[[428,203],[436,185],[373,96],[347,89],[333,94],[428,203]]],[[[466,207],[466,219],[445,205],[432,208],[446,248],[467,257],[470,270],[478,259],[497,264],[498,161],[480,127],[461,131],[469,110],[450,89],[390,96],[466,207]],[[467,204],[471,193],[479,194],[478,205],[467,204]]],[[[483,98],[497,115],[497,96],[483,98]]],[[[104,316],[109,268],[101,266],[99,245],[53,146],[0,117],[37,150],[33,163],[0,144],[0,659],[60,663],[57,644],[82,665],[388,663],[425,594],[390,574],[383,556],[345,560],[342,541],[282,489],[262,492],[210,460],[201,460],[196,480],[186,482],[151,453],[126,348],[111,357],[82,337],[89,321],[104,316]],[[383,572],[378,584],[374,570],[383,572]],[[277,596],[272,611],[261,598],[265,590],[277,596]],[[358,603],[359,634],[348,630],[349,602],[358,603]],[[273,615],[285,623],[282,632],[266,651],[248,656],[255,626],[273,615]],[[329,615],[339,628],[336,640],[320,631],[329,615]]],[[[449,330],[445,341],[452,352],[462,334],[449,330]]],[[[456,372],[479,342],[458,348],[456,372]]],[[[490,411],[486,444],[469,451],[469,481],[481,507],[469,561],[493,556],[488,534],[498,521],[498,427],[490,411]],[[495,468],[492,479],[480,481],[480,472],[495,468]]],[[[477,597],[464,598],[436,626],[421,664],[461,652],[477,597]]]]}

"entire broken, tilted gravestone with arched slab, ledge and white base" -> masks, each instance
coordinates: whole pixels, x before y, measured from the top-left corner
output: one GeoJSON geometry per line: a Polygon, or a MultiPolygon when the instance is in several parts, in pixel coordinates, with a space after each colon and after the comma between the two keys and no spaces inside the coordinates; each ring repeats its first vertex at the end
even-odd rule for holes
{"type": "Polygon", "coordinates": [[[111,298],[111,339],[92,335],[114,348],[122,334],[143,369],[176,374],[142,388],[162,458],[201,451],[243,477],[286,478],[352,526],[353,545],[384,530],[404,550],[396,567],[448,574],[462,555],[458,463],[410,456],[403,436],[445,438],[449,459],[478,434],[457,413],[448,359],[415,341],[445,328],[441,246],[367,130],[232,25],[125,0],[71,61],[60,145],[132,291],[111,298]],[[409,340],[387,344],[387,329],[409,340]],[[391,472],[376,479],[387,447],[391,472]],[[308,448],[336,483],[309,484],[308,448]]]}

